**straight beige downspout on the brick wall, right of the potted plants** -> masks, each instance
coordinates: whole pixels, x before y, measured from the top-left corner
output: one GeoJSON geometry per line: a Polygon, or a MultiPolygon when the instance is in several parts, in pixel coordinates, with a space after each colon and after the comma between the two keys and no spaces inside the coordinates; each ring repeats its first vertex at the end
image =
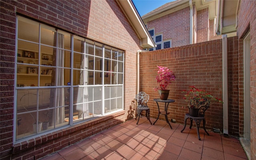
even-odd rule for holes
{"type": "Polygon", "coordinates": [[[228,39],[222,35],[223,134],[228,135],[228,39]]]}

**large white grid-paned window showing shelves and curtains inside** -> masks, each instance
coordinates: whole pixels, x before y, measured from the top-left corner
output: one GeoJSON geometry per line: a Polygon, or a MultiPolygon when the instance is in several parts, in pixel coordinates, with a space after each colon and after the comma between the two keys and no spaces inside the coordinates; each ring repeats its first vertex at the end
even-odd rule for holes
{"type": "Polygon", "coordinates": [[[124,51],[18,16],[14,141],[123,110],[124,51]]]}

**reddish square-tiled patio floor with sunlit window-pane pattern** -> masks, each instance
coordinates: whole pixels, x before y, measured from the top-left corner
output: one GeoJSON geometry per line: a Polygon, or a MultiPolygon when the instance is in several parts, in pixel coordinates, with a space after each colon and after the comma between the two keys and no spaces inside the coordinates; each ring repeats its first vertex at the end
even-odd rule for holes
{"type": "MultiPolygon", "coordinates": [[[[156,119],[150,118],[152,122],[156,119]]],[[[247,160],[237,138],[171,123],[150,125],[145,117],[104,130],[42,160],[247,160]]]]}

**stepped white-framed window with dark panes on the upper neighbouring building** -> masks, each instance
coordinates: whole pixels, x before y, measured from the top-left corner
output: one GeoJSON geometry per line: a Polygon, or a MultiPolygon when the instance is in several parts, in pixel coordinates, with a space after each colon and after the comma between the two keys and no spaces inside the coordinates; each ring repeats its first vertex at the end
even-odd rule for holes
{"type": "Polygon", "coordinates": [[[163,35],[162,34],[155,34],[154,29],[148,30],[150,33],[152,39],[154,40],[156,47],[154,48],[149,48],[149,51],[153,50],[160,50],[164,48],[170,48],[172,46],[172,41],[171,40],[164,40],[163,41],[163,35]]]}

